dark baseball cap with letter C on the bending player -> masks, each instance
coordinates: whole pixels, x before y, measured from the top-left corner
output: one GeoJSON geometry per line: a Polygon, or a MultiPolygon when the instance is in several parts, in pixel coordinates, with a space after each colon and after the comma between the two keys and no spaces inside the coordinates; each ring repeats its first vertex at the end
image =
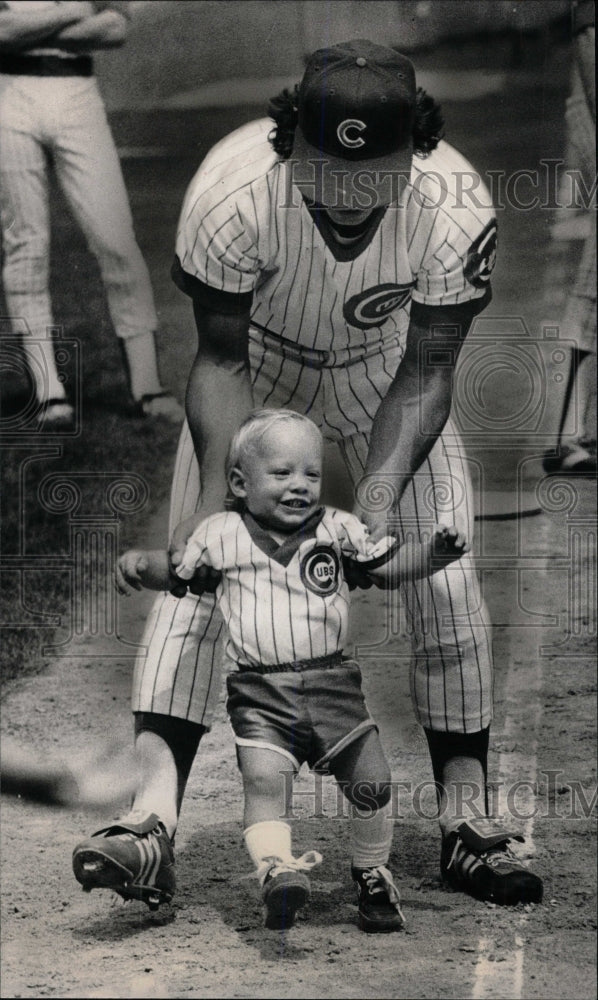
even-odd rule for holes
{"type": "Polygon", "coordinates": [[[413,64],[395,49],[366,39],[318,49],[299,87],[293,181],[328,208],[393,200],[390,175],[411,171],[415,102],[413,64]]]}

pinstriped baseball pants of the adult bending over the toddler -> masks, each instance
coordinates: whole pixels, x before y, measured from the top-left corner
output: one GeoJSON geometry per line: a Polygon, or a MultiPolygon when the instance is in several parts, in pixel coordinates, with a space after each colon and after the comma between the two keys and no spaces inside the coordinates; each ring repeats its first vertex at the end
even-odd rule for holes
{"type": "MultiPolygon", "coordinates": [[[[256,406],[307,413],[336,441],[354,483],[363,477],[369,431],[401,358],[398,344],[346,365],[327,367],[315,352],[299,360],[277,353],[252,330],[250,358],[256,406]]],[[[170,532],[197,509],[199,470],[188,426],[176,459],[170,532]]],[[[408,485],[393,523],[399,534],[456,524],[473,537],[470,478],[449,422],[408,485]]],[[[428,729],[477,732],[492,715],[490,628],[471,555],[433,576],[406,584],[402,597],[412,639],[411,694],[428,729]]],[[[136,664],[133,711],[158,712],[204,726],[222,689],[223,623],[212,595],[160,594],[147,621],[147,653],[136,664]]]]}

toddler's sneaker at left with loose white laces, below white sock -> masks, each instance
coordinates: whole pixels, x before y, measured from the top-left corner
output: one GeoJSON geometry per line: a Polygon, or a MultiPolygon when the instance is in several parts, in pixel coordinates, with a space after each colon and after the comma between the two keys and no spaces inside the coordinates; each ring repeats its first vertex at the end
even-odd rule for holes
{"type": "Polygon", "coordinates": [[[322,855],[307,851],[293,861],[264,858],[257,875],[262,883],[264,926],[268,930],[283,931],[293,926],[297,910],[305,906],[311,887],[304,871],[319,865],[322,855]]]}

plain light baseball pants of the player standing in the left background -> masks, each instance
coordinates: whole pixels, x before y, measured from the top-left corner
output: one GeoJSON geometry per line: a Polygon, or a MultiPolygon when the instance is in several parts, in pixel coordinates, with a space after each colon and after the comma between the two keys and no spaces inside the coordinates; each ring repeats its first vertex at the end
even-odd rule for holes
{"type": "Polygon", "coordinates": [[[132,337],[157,326],[149,274],[95,79],[0,75],[4,292],[9,316],[28,331],[24,347],[39,399],[63,395],[48,339],[48,156],[98,259],[117,335],[132,337]]]}

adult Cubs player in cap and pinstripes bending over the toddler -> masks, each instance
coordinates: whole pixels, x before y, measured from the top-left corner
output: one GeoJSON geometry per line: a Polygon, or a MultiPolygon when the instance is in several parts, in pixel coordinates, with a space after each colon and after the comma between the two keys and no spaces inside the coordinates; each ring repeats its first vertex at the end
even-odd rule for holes
{"type": "MultiPolygon", "coordinates": [[[[459,350],[490,301],[496,223],[479,176],[441,130],[411,62],[354,40],[315,52],[295,93],[201,164],[174,265],[199,338],[173,483],[175,565],[194,527],[222,509],[228,442],[254,405],[308,413],[337,442],[374,541],[389,507],[401,539],[440,522],[473,537],[450,405],[459,350]]],[[[402,588],[412,699],[439,789],[441,872],[482,899],[539,901],[542,882],[513,856],[509,831],[462,815],[461,783],[484,801],[492,667],[471,554],[457,565],[402,588]]],[[[221,629],[207,594],[157,598],[133,691],[142,779],[133,816],[108,828],[103,849],[115,857],[132,835],[170,864],[156,816],[174,836],[220,691],[221,629]]]]}

